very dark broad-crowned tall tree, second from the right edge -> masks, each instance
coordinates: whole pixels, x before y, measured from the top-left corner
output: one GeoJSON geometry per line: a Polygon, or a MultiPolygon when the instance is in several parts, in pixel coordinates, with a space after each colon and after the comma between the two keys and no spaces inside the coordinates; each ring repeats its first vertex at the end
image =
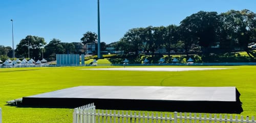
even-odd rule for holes
{"type": "Polygon", "coordinates": [[[219,15],[217,12],[200,11],[181,21],[180,31],[186,52],[192,44],[202,47],[204,53],[217,42],[219,15]]]}

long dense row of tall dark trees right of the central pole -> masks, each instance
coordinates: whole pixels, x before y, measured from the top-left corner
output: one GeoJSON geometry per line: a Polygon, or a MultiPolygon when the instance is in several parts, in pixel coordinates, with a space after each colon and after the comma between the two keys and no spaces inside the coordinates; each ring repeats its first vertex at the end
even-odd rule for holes
{"type": "Polygon", "coordinates": [[[157,49],[166,51],[183,49],[199,50],[203,54],[246,51],[256,57],[248,44],[256,41],[256,14],[249,10],[230,10],[225,13],[204,12],[192,14],[180,22],[180,26],[134,28],[127,31],[115,43],[117,50],[127,52],[157,49]],[[218,50],[212,50],[217,46],[218,50]]]}

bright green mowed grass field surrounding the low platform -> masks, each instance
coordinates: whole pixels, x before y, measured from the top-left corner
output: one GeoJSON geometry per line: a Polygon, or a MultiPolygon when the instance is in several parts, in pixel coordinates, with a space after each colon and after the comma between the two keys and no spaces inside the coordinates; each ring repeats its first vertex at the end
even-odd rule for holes
{"type": "Polygon", "coordinates": [[[256,66],[204,67],[231,69],[166,72],[82,70],[102,68],[99,66],[0,68],[0,107],[3,111],[3,122],[72,122],[73,109],[20,108],[8,106],[6,102],[80,85],[236,86],[243,103],[244,111],[241,115],[256,116],[256,66]]]}

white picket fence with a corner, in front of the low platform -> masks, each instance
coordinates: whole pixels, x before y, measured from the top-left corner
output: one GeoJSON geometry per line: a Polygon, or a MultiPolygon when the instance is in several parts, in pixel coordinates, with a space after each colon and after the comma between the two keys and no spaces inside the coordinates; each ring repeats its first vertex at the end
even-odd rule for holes
{"type": "Polygon", "coordinates": [[[154,113],[96,110],[94,104],[74,109],[73,123],[255,123],[254,117],[201,113],[154,113]]]}

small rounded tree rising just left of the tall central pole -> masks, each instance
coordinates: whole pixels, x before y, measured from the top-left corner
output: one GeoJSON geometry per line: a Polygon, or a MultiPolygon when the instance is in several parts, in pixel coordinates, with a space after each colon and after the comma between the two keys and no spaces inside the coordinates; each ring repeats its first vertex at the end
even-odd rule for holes
{"type": "Polygon", "coordinates": [[[98,40],[98,35],[94,32],[86,32],[81,38],[83,44],[91,43],[98,40]]]}

